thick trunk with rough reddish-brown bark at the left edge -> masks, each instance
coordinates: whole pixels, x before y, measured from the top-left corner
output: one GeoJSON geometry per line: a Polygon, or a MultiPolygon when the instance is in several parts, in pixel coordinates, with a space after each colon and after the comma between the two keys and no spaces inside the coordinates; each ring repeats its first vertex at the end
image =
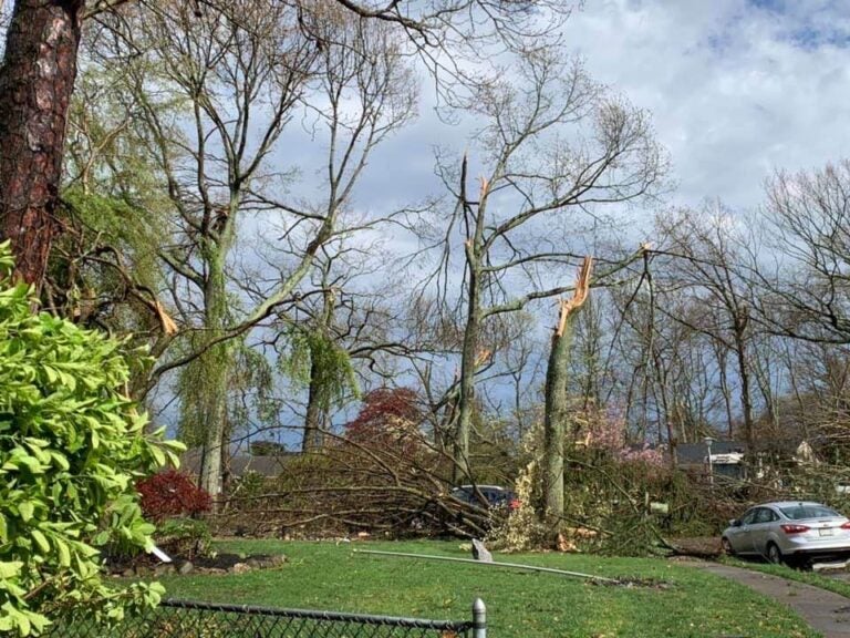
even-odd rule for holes
{"type": "Polygon", "coordinates": [[[0,66],[0,237],[41,286],[59,225],[65,121],[84,0],[18,0],[0,66]]]}

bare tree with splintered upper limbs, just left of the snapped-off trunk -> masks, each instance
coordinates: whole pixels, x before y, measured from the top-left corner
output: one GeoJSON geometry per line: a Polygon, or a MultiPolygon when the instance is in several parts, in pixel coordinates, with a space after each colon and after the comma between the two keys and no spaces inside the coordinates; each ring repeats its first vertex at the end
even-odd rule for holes
{"type": "Polygon", "coordinates": [[[562,294],[553,269],[574,263],[570,243],[607,205],[647,196],[665,172],[645,113],[594,85],[577,61],[551,50],[526,51],[517,74],[480,90],[471,105],[487,124],[478,140],[485,176],[468,189],[469,162],[440,174],[456,200],[445,223],[439,268],[425,282],[448,282],[453,251],[463,246],[464,308],[456,459],[469,455],[476,361],[488,320],[562,294]]]}

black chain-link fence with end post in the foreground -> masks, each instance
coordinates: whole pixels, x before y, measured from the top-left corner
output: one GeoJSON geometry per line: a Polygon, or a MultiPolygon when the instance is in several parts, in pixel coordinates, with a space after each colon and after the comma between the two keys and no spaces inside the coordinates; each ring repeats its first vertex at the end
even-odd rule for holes
{"type": "Polygon", "coordinates": [[[486,638],[480,599],[473,620],[446,621],[307,609],[269,609],[165,600],[106,628],[81,614],[58,622],[53,638],[486,638]]]}

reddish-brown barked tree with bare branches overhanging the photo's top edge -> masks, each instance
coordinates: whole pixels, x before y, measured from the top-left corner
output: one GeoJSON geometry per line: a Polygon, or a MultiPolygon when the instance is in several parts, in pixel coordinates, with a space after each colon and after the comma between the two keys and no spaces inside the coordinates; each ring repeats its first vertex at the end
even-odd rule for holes
{"type": "MultiPolygon", "coordinates": [[[[83,20],[134,4],[154,16],[159,10],[158,2],[145,0],[13,3],[0,66],[0,238],[12,239],[18,274],[39,286],[59,231],[54,213],[83,20]]],[[[477,61],[480,69],[480,63],[491,58],[494,47],[520,47],[530,39],[551,37],[571,8],[556,0],[426,0],[379,6],[326,0],[310,7],[298,1],[279,2],[274,10],[289,17],[280,24],[286,33],[304,25],[305,12],[321,13],[333,7],[392,25],[436,76],[456,81],[446,86],[474,80],[475,73],[467,71],[462,56],[467,62],[477,61]]],[[[230,2],[216,0],[195,0],[185,9],[199,25],[214,14],[232,14],[230,2]]]]}

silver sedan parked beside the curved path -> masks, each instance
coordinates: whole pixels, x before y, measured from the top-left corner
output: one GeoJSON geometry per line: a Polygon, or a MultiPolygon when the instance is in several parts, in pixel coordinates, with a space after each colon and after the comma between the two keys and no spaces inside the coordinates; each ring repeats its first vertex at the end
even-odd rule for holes
{"type": "Polygon", "coordinates": [[[729,521],[723,531],[727,554],[757,555],[770,563],[850,557],[850,521],[820,503],[764,503],[729,521]]]}

